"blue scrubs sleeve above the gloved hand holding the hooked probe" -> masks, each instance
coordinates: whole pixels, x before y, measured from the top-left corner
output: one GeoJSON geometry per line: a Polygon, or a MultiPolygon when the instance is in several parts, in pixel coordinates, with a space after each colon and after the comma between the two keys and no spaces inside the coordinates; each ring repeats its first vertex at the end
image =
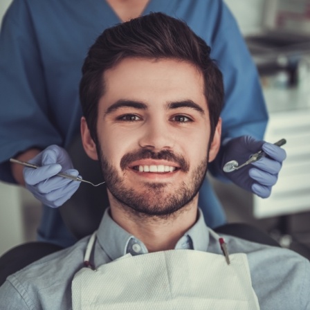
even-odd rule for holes
{"type": "Polygon", "coordinates": [[[61,144],[48,109],[42,58],[26,1],[13,1],[0,34],[0,179],[15,183],[8,159],[61,144]]]}

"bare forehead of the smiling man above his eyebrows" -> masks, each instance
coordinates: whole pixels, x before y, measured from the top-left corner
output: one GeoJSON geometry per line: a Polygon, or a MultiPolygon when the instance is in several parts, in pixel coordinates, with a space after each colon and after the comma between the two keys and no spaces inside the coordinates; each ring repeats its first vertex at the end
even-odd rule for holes
{"type": "Polygon", "coordinates": [[[190,99],[207,109],[203,75],[189,62],[125,58],[103,78],[107,104],[120,98],[157,103],[190,99]]]}

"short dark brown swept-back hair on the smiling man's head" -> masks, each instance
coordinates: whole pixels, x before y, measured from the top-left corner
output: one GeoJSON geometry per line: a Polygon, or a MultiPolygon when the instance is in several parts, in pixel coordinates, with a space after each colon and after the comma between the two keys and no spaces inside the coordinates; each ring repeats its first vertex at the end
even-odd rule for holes
{"type": "Polygon", "coordinates": [[[204,78],[213,137],[224,101],[221,71],[210,59],[210,47],[187,24],[156,12],[107,28],[89,49],[82,67],[80,102],[95,142],[98,102],[104,94],[103,73],[127,57],[172,58],[197,66],[204,78]]]}

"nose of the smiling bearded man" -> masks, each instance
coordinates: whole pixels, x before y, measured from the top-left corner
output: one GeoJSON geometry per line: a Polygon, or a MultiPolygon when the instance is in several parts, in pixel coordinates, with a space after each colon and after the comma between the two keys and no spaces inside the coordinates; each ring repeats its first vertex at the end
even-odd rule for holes
{"type": "Polygon", "coordinates": [[[174,147],[174,135],[169,130],[169,125],[164,121],[152,120],[147,122],[143,128],[143,135],[140,137],[140,147],[161,151],[162,149],[171,149],[174,147]]]}

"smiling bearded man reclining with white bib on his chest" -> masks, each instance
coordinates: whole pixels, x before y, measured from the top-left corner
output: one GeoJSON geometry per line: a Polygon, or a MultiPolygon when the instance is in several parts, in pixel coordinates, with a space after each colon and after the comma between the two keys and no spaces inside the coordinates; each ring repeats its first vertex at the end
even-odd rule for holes
{"type": "Polygon", "coordinates": [[[93,236],[8,277],[0,307],[309,309],[307,259],[225,244],[197,206],[223,96],[210,48],[182,21],[154,13],[105,30],[80,98],[84,149],[101,163],[110,208],[93,236]]]}

